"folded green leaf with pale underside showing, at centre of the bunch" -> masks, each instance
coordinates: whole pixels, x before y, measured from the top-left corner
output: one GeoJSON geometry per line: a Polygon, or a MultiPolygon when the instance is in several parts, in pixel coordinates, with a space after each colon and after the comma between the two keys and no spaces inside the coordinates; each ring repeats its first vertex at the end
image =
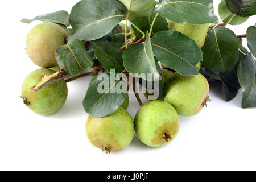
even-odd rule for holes
{"type": "Polygon", "coordinates": [[[123,52],[123,65],[135,77],[148,81],[159,79],[148,32],[144,44],[133,44],[125,49],[125,52],[123,52]],[[152,77],[148,77],[147,74],[152,74],[152,77]]]}

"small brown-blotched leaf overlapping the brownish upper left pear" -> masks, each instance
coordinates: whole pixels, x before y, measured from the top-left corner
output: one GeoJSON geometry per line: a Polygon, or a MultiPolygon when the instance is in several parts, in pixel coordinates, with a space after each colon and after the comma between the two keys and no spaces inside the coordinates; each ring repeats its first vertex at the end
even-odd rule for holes
{"type": "Polygon", "coordinates": [[[77,39],[60,46],[56,51],[56,60],[60,69],[64,69],[69,76],[78,76],[85,68],[93,66],[92,57],[86,51],[84,44],[77,39]]]}

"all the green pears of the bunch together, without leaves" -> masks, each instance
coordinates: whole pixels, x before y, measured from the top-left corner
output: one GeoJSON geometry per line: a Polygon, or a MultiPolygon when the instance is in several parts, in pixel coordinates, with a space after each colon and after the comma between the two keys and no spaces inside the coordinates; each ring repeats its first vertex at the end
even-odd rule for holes
{"type": "MultiPolygon", "coordinates": [[[[191,37],[202,47],[208,32],[209,24],[195,26],[178,24],[168,20],[172,30],[191,37]]],[[[42,23],[32,28],[27,36],[27,53],[38,69],[24,80],[22,98],[32,111],[40,115],[56,113],[67,99],[68,89],[64,79],[53,82],[38,92],[31,87],[42,77],[56,72],[55,51],[66,43],[67,32],[55,23],[42,23]]],[[[201,67],[201,64],[197,64],[201,67]]],[[[166,84],[163,98],[149,101],[139,109],[134,121],[126,111],[129,97],[115,113],[105,118],[94,118],[90,115],[86,122],[86,135],[90,143],[105,152],[119,151],[129,146],[137,137],[150,147],[160,147],[170,143],[179,133],[179,115],[196,115],[209,101],[209,84],[201,74],[186,77],[168,69],[162,69],[166,84]]],[[[148,96],[148,94],[146,94],[148,96]]]]}

